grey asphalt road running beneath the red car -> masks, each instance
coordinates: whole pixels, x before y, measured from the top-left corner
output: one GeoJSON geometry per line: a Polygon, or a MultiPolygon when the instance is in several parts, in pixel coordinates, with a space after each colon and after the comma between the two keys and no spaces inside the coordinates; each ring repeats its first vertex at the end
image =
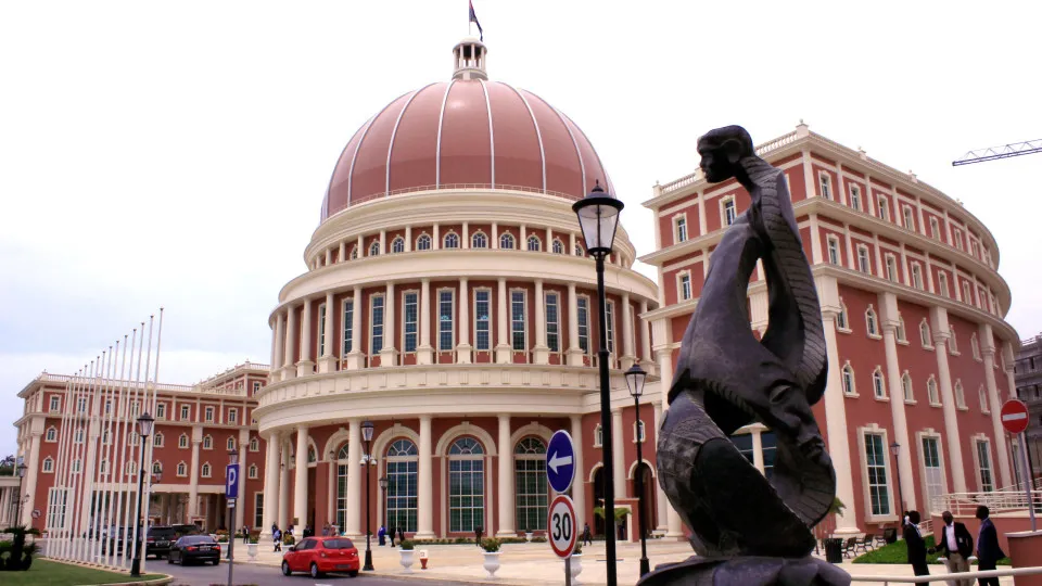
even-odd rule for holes
{"type": "MultiPolygon", "coordinates": [[[[170,586],[211,586],[212,584],[228,583],[227,562],[221,562],[219,566],[183,566],[168,564],[162,560],[149,560],[148,571],[171,574],[174,582],[170,583],[170,586]]],[[[287,584],[294,586],[406,586],[408,584],[416,584],[416,581],[367,576],[365,573],[359,574],[358,577],[355,578],[348,577],[346,574],[327,574],[318,579],[314,579],[306,574],[293,574],[291,577],[284,577],[278,568],[249,563],[236,564],[234,583],[256,584],[257,586],[285,586],[287,584]]],[[[465,583],[437,582],[436,584],[439,586],[462,586],[465,583]]]]}

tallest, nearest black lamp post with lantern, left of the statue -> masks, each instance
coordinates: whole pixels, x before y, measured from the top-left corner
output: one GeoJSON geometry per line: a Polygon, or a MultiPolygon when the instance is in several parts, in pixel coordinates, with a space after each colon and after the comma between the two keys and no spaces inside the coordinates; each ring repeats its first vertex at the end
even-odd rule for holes
{"type": "Polygon", "coordinates": [[[586,241],[586,252],[594,257],[597,267],[597,301],[600,317],[597,320],[597,366],[600,371],[600,429],[601,459],[605,470],[605,553],[608,557],[608,586],[615,586],[615,492],[612,480],[614,470],[611,455],[611,388],[608,378],[608,316],[605,309],[605,258],[611,254],[619,226],[619,213],[623,203],[605,193],[598,181],[585,198],[572,205],[579,217],[579,226],[586,241]]]}

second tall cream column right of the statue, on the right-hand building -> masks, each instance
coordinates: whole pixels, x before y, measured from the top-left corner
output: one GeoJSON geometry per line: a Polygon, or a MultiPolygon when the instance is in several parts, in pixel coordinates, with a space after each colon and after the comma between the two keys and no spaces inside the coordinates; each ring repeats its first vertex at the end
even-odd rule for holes
{"type": "Polygon", "coordinates": [[[899,509],[902,511],[916,510],[915,479],[912,475],[912,457],[914,446],[908,435],[908,421],[904,413],[904,387],[901,384],[901,364],[898,360],[897,330],[900,323],[898,316],[898,297],[893,293],[879,294],[880,319],[882,321],[882,344],[887,356],[887,387],[890,393],[890,417],[893,420],[893,440],[901,444],[903,449],[898,457],[898,485],[901,487],[899,509]]]}

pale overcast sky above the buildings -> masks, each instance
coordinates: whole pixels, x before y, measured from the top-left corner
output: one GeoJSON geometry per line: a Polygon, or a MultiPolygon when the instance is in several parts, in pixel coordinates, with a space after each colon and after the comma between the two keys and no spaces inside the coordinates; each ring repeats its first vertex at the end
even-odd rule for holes
{"type": "MultiPolygon", "coordinates": [[[[1042,331],[1042,154],[951,166],[1042,138],[1038,2],[474,8],[490,76],[589,136],[639,254],[639,203],[695,169],[701,132],[764,142],[803,118],[962,200],[999,240],[1006,319],[1042,331]]],[[[36,374],[74,371],[161,305],[161,380],[267,362],[268,313],[305,269],[344,144],[447,80],[467,31],[466,0],[0,4],[0,455],[36,374]]]]}

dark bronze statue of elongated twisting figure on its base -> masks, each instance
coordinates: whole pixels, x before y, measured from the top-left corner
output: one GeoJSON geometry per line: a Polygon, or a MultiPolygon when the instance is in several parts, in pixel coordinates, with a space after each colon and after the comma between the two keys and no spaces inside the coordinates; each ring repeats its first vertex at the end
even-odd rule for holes
{"type": "Polygon", "coordinates": [[[785,175],[757,156],[739,126],[711,130],[698,152],[708,181],[735,178],[752,202],[713,251],[659,431],[659,483],[690,527],[697,556],[659,566],[640,584],[849,584],[846,572],[810,557],[810,527],[828,513],[836,474],[811,412],[828,365],[785,175]],[[747,302],[758,259],[768,292],[760,340],[747,302]],[[754,421],[777,437],[770,480],[728,438],[754,421]]]}

